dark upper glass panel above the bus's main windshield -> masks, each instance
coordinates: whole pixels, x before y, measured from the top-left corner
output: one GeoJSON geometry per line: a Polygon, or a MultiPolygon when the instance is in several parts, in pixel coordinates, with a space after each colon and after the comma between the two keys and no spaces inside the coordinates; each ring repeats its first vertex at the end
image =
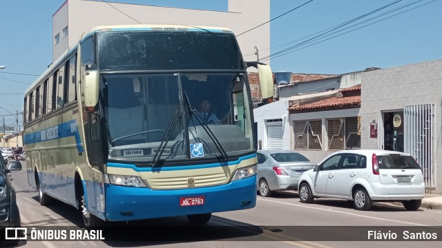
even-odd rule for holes
{"type": "Polygon", "coordinates": [[[104,32],[98,40],[100,70],[244,70],[231,33],[104,32]]]}

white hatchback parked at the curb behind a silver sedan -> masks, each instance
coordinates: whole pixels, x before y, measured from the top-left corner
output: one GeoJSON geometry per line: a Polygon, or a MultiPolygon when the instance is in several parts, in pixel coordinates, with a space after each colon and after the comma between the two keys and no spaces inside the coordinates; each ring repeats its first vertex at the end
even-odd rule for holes
{"type": "Polygon", "coordinates": [[[299,178],[302,203],[314,198],[353,200],[358,210],[373,201],[399,201],[417,210],[425,194],[421,167],[410,154],[385,150],[345,150],[327,156],[299,178]]]}

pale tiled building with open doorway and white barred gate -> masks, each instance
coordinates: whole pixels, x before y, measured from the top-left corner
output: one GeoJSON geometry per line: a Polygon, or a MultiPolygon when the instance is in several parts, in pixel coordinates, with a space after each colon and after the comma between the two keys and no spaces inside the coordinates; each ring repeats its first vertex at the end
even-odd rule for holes
{"type": "Polygon", "coordinates": [[[364,72],[361,99],[361,146],[411,154],[441,194],[442,59],[364,72]]]}

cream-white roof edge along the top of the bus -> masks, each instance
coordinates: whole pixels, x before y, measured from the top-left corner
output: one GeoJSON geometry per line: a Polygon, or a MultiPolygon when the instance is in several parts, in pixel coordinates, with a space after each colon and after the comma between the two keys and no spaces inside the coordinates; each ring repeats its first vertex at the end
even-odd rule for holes
{"type": "MultiPolygon", "coordinates": [[[[95,26],[93,28],[90,28],[90,30],[81,35],[80,39],[81,41],[89,37],[90,35],[94,34],[95,32],[109,32],[109,31],[133,31],[133,30],[146,30],[146,31],[190,31],[190,32],[227,32],[227,33],[233,33],[229,28],[222,28],[222,27],[213,27],[213,26],[199,26],[199,25],[173,25],[173,24],[135,24],[135,25],[99,25],[95,26]]],[[[50,67],[48,67],[47,70],[37,80],[28,87],[28,89],[25,92],[25,96],[29,94],[41,81],[46,79],[48,74],[52,72],[52,70],[55,70],[56,67],[59,66],[59,63],[64,61],[67,56],[70,56],[70,53],[74,50],[77,50],[77,45],[75,45],[74,48],[69,48],[66,50],[59,58],[52,62],[50,67]]]]}

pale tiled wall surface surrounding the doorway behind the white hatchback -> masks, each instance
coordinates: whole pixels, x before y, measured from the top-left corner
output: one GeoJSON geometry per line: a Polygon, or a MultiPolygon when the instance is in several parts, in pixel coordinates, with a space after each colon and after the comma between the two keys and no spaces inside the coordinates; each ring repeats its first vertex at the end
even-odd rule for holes
{"type": "Polygon", "coordinates": [[[361,87],[361,147],[367,149],[383,149],[383,111],[434,103],[436,193],[442,193],[442,59],[364,72],[361,87]],[[369,138],[372,120],[378,138],[369,138]]]}

